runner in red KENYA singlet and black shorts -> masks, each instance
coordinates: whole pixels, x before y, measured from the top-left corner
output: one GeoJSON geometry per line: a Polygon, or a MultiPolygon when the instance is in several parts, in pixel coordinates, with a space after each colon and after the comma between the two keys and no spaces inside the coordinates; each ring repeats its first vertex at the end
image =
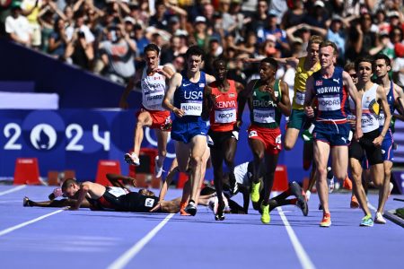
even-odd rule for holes
{"type": "Polygon", "coordinates": [[[215,82],[206,85],[204,98],[206,112],[210,111],[207,143],[211,151],[215,190],[219,203],[215,220],[224,221],[223,162],[229,169],[231,192],[235,194],[237,185],[234,178],[234,155],[239,138],[239,126],[236,124],[237,96],[244,90],[244,86],[242,83],[227,79],[226,63],[223,59],[216,59],[213,67],[215,82]]]}

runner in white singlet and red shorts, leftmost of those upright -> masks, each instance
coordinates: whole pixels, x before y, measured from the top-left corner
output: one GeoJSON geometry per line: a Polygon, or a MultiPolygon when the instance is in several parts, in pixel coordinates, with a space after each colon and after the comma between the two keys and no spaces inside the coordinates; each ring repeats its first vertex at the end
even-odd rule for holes
{"type": "Polygon", "coordinates": [[[137,112],[135,128],[134,150],[125,154],[125,161],[132,165],[140,165],[139,152],[143,141],[145,126],[155,130],[157,137],[158,156],[155,158],[155,177],[162,176],[162,164],[167,155],[167,138],[171,130],[170,111],[162,108],[162,99],[166,90],[166,82],[171,78],[173,71],[167,66],[159,65],[160,48],[149,44],[144,49],[146,67],[136,72],[135,77],[127,84],[123,92],[119,107],[127,108],[127,96],[134,86],[140,82],[142,88],[142,108],[137,112]]]}

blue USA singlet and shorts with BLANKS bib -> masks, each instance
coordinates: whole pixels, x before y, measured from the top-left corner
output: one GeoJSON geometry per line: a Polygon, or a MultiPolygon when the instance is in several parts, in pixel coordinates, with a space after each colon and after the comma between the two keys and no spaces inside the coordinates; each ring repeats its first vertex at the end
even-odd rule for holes
{"type": "Polygon", "coordinates": [[[200,72],[198,82],[190,82],[186,72],[182,72],[180,87],[174,92],[174,107],[185,111],[185,116],[175,117],[172,122],[171,138],[189,143],[196,135],[206,135],[206,121],[201,117],[206,74],[200,72]]]}

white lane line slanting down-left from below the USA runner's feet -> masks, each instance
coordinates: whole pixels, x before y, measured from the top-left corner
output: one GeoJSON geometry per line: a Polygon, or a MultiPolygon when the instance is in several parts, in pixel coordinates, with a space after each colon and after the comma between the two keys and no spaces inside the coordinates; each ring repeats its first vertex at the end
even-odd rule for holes
{"type": "Polygon", "coordinates": [[[156,227],[154,227],[153,230],[149,231],[145,235],[143,239],[140,239],[133,247],[130,247],[127,249],[127,251],[122,255],[119,256],[118,259],[116,259],[110,266],[108,266],[108,269],[120,269],[123,268],[127,265],[127,263],[133,259],[137,253],[139,253],[140,250],[142,250],[145,245],[154,238],[154,236],[159,232],[159,230],[162,230],[162,227],[164,227],[165,224],[167,224],[168,221],[172,218],[174,214],[171,213],[167,217],[165,217],[164,220],[162,220],[156,227]]]}

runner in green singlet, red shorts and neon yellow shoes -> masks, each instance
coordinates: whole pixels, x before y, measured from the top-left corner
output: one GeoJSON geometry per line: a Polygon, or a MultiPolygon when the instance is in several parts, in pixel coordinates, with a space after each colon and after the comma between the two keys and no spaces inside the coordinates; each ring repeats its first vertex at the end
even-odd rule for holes
{"type": "Polygon", "coordinates": [[[269,195],[277,168],[278,153],[282,148],[279,129],[282,114],[290,115],[291,104],[285,82],[275,78],[277,61],[264,58],[259,64],[259,79],[252,80],[246,91],[240,94],[238,115],[242,115],[245,103],[250,107],[249,144],[254,157],[251,186],[251,201],[259,202],[260,169],[264,180],[264,197],[261,204],[261,221],[269,223],[269,195]]]}

